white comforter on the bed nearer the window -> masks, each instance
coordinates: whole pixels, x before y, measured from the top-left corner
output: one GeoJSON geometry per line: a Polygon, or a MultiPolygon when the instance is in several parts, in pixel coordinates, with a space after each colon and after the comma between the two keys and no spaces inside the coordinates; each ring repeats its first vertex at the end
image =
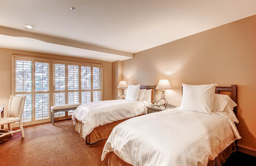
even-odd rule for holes
{"type": "Polygon", "coordinates": [[[77,107],[72,119],[74,125],[76,120],[84,124],[85,139],[95,127],[145,114],[146,106],[150,104],[146,101],[130,102],[126,100],[89,102],[77,107]]]}

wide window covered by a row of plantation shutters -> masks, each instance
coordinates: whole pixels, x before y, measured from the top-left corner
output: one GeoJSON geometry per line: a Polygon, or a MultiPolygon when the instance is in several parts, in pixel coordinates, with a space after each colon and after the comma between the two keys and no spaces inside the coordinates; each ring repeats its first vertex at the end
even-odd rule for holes
{"type": "MultiPolygon", "coordinates": [[[[102,66],[13,56],[13,95],[27,96],[24,125],[48,122],[53,105],[102,100],[102,66]]],[[[73,112],[57,112],[54,118],[73,112]]]]}

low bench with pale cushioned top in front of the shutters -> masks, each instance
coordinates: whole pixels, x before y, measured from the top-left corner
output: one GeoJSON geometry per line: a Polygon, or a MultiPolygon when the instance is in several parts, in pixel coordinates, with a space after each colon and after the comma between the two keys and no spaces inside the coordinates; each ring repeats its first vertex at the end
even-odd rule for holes
{"type": "Polygon", "coordinates": [[[51,122],[54,125],[54,112],[62,112],[62,111],[69,111],[75,110],[81,103],[74,103],[74,104],[63,104],[63,105],[54,105],[51,107],[51,122]]]}

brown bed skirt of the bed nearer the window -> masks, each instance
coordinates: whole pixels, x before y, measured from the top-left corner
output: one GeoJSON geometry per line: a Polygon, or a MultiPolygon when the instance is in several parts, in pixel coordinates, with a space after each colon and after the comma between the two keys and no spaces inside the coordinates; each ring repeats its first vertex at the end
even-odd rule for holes
{"type": "MultiPolygon", "coordinates": [[[[113,128],[127,119],[119,120],[116,122],[104,124],[102,126],[95,127],[93,131],[85,137],[86,144],[93,144],[97,141],[107,139],[112,132],[113,128]]],[[[83,131],[84,124],[80,121],[76,121],[75,131],[79,133],[79,136],[84,138],[84,131],[83,131]]]]}

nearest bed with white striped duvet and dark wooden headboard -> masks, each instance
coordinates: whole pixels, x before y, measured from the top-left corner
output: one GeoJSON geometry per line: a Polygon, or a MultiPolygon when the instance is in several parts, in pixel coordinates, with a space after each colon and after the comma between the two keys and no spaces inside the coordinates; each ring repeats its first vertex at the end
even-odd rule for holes
{"type": "Polygon", "coordinates": [[[101,160],[110,153],[109,166],[223,164],[236,150],[234,141],[241,138],[234,123],[238,123],[233,112],[236,86],[182,86],[180,107],[134,117],[113,128],[101,160]],[[214,94],[227,89],[235,89],[231,91],[233,100],[214,94]]]}

